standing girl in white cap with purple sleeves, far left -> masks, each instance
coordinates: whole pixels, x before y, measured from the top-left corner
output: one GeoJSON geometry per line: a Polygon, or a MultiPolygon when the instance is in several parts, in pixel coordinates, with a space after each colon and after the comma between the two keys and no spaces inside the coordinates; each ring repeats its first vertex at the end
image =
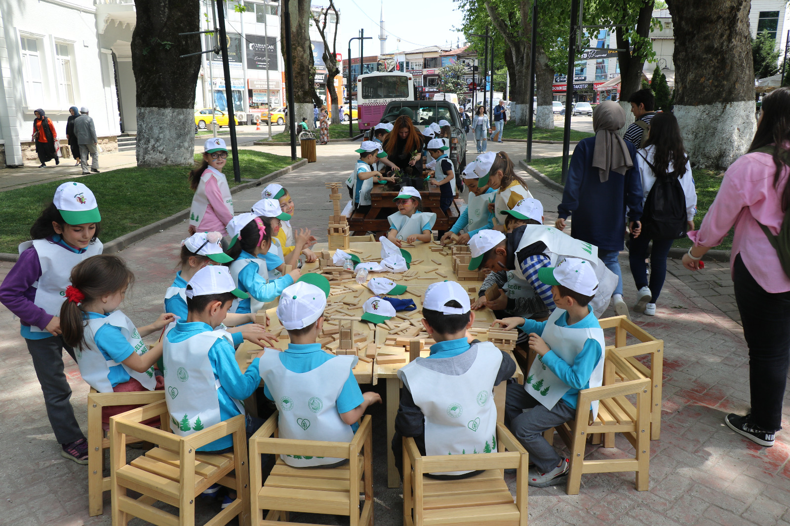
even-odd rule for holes
{"type": "Polygon", "coordinates": [[[88,443],[69,402],[62,353],[66,349],[74,358],[74,351],[63,343],[59,316],[71,269],[102,252],[100,221],[92,191],[81,182],[62,183],[30,228],[32,241],[20,244],[19,259],[0,284],[0,302],[21,321],[61,454],[78,464],[88,464],[88,443]]]}

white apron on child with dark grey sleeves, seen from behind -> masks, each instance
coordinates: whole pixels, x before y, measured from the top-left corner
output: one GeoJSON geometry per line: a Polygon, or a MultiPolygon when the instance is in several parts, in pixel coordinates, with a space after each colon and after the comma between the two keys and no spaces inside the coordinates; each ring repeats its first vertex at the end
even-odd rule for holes
{"type": "MultiPolygon", "coordinates": [[[[429,358],[418,358],[397,373],[425,415],[425,453],[429,456],[497,450],[493,390],[502,351],[489,342],[471,348],[477,349],[477,356],[464,374],[451,376],[422,366],[429,358]]],[[[464,475],[470,471],[431,475],[464,475]]]]}

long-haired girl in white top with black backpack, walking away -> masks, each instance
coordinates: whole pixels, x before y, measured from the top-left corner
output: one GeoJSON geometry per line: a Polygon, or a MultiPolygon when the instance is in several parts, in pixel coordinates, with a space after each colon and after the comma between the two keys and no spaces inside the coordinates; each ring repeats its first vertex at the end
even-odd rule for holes
{"type": "Polygon", "coordinates": [[[672,242],[685,237],[686,227],[694,230],[697,191],[691,176],[691,164],[675,115],[659,112],[650,121],[645,148],[637,152],[641,174],[641,235],[631,234],[629,261],[631,275],[638,288],[634,311],[648,316],[656,314],[656,300],[667,276],[667,256],[672,242]],[[648,253],[648,245],[653,249],[648,253]],[[650,257],[648,283],[645,258],[650,257]]]}

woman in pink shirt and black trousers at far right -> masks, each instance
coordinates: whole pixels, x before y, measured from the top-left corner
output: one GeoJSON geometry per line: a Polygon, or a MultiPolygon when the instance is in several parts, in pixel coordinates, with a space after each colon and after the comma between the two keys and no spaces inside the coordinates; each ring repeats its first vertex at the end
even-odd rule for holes
{"type": "Polygon", "coordinates": [[[760,445],[770,446],[781,429],[782,400],[790,364],[790,277],[760,224],[776,235],[790,206],[788,159],[790,88],[778,88],[762,103],[749,153],[728,168],[716,200],[698,231],[683,265],[699,260],[735,227],[730,265],[743,336],[749,347],[751,413],[730,413],[724,423],[760,445]],[[773,148],[779,145],[779,148],[773,148]],[[769,152],[763,152],[763,148],[769,152]]]}

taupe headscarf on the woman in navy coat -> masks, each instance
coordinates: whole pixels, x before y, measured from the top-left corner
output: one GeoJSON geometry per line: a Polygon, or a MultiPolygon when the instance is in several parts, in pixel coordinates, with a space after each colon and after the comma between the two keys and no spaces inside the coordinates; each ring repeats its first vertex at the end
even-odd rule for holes
{"type": "Polygon", "coordinates": [[[609,171],[625,175],[634,167],[626,141],[617,133],[626,125],[626,111],[618,103],[604,100],[592,110],[592,131],[595,132],[595,151],[592,166],[598,168],[600,182],[607,182],[609,171]]]}

